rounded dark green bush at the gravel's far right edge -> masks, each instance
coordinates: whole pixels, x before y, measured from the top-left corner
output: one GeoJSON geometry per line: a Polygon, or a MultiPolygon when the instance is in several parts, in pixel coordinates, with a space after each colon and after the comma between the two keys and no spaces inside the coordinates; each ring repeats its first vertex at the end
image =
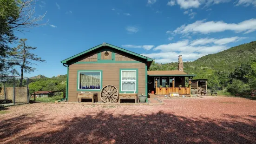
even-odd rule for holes
{"type": "Polygon", "coordinates": [[[247,94],[249,90],[249,85],[244,84],[243,81],[239,79],[233,79],[232,84],[228,86],[228,92],[236,96],[247,94]]]}

